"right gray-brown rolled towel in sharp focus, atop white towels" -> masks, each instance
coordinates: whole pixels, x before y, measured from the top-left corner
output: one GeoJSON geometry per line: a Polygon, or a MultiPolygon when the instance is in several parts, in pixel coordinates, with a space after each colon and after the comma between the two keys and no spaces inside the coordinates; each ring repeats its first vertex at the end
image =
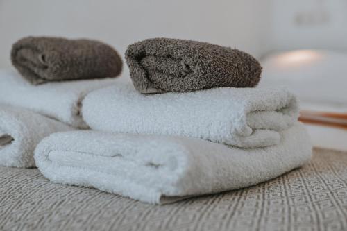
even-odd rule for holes
{"type": "Polygon", "coordinates": [[[141,93],[192,92],[213,87],[255,87],[262,67],[253,56],[206,42],[154,38],[126,50],[141,93]]]}

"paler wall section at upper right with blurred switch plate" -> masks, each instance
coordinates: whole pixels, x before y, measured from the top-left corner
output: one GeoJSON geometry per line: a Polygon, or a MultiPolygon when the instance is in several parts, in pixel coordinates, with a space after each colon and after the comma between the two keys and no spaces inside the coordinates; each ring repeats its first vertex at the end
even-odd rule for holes
{"type": "Polygon", "coordinates": [[[347,0],[273,1],[273,50],[347,49],[347,0]]]}

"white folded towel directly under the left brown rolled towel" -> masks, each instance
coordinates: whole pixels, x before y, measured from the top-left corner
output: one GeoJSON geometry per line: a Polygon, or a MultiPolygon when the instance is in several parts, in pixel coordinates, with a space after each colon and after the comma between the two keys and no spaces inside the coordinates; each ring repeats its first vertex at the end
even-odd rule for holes
{"type": "Polygon", "coordinates": [[[0,103],[26,108],[76,128],[87,128],[80,111],[84,96],[120,80],[105,78],[34,86],[15,71],[0,70],[0,103]]]}

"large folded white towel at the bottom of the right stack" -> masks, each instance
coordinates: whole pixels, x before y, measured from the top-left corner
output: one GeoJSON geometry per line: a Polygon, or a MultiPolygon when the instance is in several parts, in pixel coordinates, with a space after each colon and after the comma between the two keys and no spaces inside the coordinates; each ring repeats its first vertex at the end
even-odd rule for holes
{"type": "Polygon", "coordinates": [[[305,164],[311,153],[298,123],[276,146],[255,149],[188,137],[59,132],[40,142],[35,161],[53,182],[169,203],[264,182],[305,164]]]}

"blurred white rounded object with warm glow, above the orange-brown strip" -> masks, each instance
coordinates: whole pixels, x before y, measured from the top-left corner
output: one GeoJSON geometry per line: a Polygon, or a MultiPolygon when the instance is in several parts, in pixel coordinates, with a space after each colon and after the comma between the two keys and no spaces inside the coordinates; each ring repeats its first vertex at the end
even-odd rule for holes
{"type": "Polygon", "coordinates": [[[336,104],[347,111],[347,53],[298,50],[262,60],[260,87],[286,86],[304,103],[336,104]]]}

